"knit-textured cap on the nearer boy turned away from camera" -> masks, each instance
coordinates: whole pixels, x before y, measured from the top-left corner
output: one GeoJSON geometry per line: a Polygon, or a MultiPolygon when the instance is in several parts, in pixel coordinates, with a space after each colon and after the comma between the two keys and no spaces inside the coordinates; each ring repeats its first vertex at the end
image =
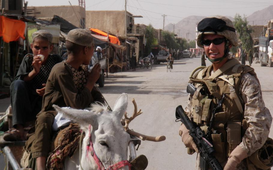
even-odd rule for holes
{"type": "Polygon", "coordinates": [[[91,47],[94,44],[91,31],[80,28],[69,31],[65,40],[87,47],[91,47]]]}

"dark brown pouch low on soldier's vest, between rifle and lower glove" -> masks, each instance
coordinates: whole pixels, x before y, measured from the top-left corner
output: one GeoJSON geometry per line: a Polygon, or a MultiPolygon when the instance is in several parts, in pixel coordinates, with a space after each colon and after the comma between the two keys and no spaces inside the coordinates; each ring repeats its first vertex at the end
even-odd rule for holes
{"type": "Polygon", "coordinates": [[[222,163],[226,160],[225,142],[223,141],[222,134],[211,134],[213,148],[215,149],[214,156],[222,163]]]}

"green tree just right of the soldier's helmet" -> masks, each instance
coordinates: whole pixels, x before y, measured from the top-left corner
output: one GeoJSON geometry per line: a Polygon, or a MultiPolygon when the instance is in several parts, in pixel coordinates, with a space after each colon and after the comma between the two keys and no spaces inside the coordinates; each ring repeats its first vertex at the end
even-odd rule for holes
{"type": "Polygon", "coordinates": [[[248,25],[246,17],[241,17],[238,13],[234,17],[234,26],[237,31],[242,48],[249,51],[253,48],[253,39],[251,37],[252,29],[248,25]]]}

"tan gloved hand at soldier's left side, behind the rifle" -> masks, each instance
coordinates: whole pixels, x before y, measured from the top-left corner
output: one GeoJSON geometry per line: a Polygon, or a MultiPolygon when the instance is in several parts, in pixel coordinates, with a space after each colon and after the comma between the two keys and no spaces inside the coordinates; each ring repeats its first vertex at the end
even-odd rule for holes
{"type": "Polygon", "coordinates": [[[199,153],[196,144],[193,142],[193,138],[190,136],[190,130],[182,124],[179,128],[179,135],[182,137],[182,142],[190,149],[194,149],[196,153],[199,153]]]}

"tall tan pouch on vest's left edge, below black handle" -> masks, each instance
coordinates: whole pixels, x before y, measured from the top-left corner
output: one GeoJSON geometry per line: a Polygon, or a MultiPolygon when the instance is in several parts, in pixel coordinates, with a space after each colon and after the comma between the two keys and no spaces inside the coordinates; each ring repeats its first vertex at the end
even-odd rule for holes
{"type": "Polygon", "coordinates": [[[205,98],[206,95],[201,94],[203,86],[197,87],[195,93],[192,96],[192,110],[193,110],[193,122],[202,123],[202,110],[203,104],[201,100],[205,98]]]}

